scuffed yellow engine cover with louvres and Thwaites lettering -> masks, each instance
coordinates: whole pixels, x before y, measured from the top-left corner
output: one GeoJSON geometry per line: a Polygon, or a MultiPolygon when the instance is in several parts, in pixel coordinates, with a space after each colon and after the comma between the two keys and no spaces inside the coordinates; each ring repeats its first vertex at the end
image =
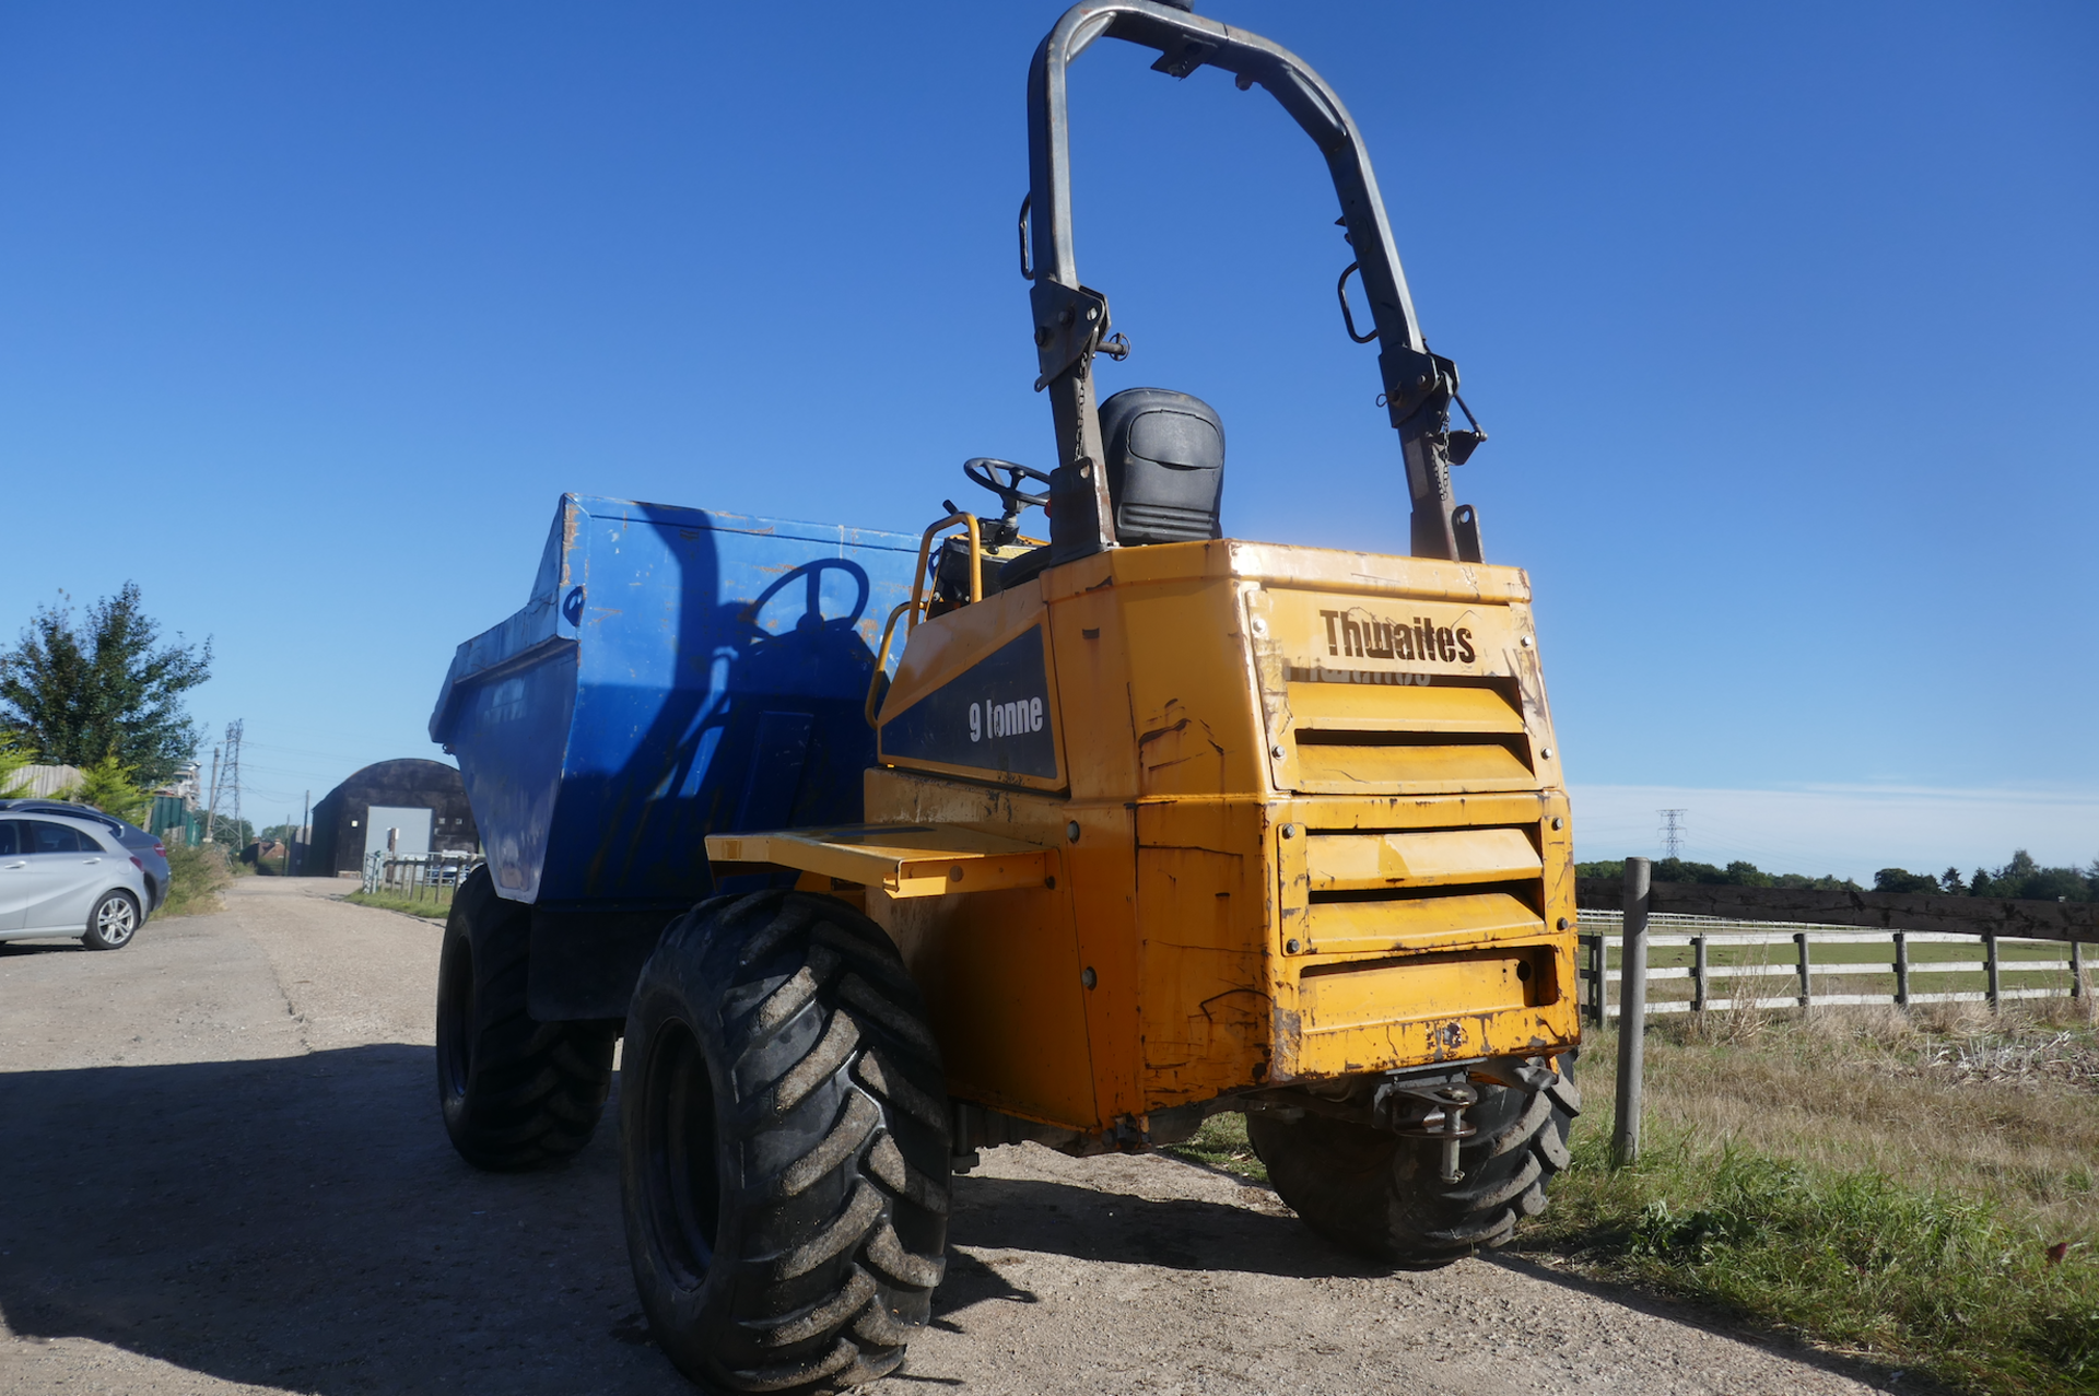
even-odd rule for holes
{"type": "Polygon", "coordinates": [[[957,1098],[1100,1129],[1578,1041],[1568,804],[1520,569],[1117,548],[928,619],[869,823],[1060,852],[869,890],[957,1098]]]}

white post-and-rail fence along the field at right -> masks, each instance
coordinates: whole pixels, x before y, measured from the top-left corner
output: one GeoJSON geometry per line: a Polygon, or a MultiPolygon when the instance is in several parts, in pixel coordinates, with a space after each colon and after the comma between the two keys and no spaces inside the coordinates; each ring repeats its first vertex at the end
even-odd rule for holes
{"type": "MultiPolygon", "coordinates": [[[[1612,951],[1623,949],[1625,943],[1625,913],[1623,911],[1583,911],[1581,913],[1581,949],[1583,964],[1576,970],[1581,978],[1583,1014],[1591,1022],[1604,1022],[1606,1018],[1618,1016],[1618,995],[1610,993],[1610,985],[1623,985],[1623,972],[1616,968],[1616,955],[1612,951]]],[[[1648,917],[1648,1014],[1688,1014],[1704,1010],[1730,1010],[1730,1008],[1814,1008],[1818,1003],[1839,1006],[1839,1003],[2002,1003],[2007,999],[2059,999],[2059,997],[2082,997],[2091,993],[2089,970],[2084,961],[2084,947],[2076,940],[2026,940],[2015,936],[1967,936],[1954,932],[1933,932],[1933,930],[1835,930],[1830,926],[1814,926],[1805,922],[1725,922],[1719,917],[1702,915],[1673,915],[1660,913],[1648,917]],[[1887,945],[1887,959],[1824,959],[1818,961],[1814,947],[1849,947],[1849,945],[1887,945]],[[1981,959],[1937,959],[1935,955],[1916,957],[1914,947],[1921,945],[1967,945],[1981,951],[1981,959]],[[1688,966],[1654,966],[1652,953],[1656,949],[1690,949],[1692,964],[1688,966]],[[1788,947],[1790,953],[1774,959],[1774,947],[1788,947]],[[2005,955],[2005,949],[2015,949],[2017,953],[2005,955]],[[1713,955],[1721,951],[1730,957],[1730,964],[1715,964],[1713,955]],[[1759,955],[1761,951],[1761,955],[1759,955]],[[2038,953],[2036,953],[2038,951],[2038,953]],[[1937,974],[1981,974],[1986,976],[1984,989],[1939,989],[1939,991],[1918,991],[1914,982],[1918,976],[1937,974]],[[2051,985],[2005,985],[2005,976],[2049,976],[2051,985]],[[1715,987],[1725,980],[1730,987],[1740,985],[1740,980],[1757,978],[1790,978],[1790,993],[1782,995],[1761,995],[1753,993],[1744,997],[1742,989],[1734,989],[1730,997],[1715,997],[1715,987]],[[1856,980],[1870,978],[1891,978],[1893,985],[1887,993],[1858,993],[1856,980]],[[1690,997],[1654,997],[1656,985],[1671,985],[1673,980],[1690,980],[1690,997]],[[1847,993],[1820,993],[1818,980],[1851,980],[1847,993]]]]}

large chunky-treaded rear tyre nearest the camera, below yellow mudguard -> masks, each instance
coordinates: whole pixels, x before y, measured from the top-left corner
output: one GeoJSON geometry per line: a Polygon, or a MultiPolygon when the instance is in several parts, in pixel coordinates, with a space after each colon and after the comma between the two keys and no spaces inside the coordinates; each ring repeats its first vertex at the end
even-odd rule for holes
{"type": "Polygon", "coordinates": [[[896,1371],[947,1268],[940,1050],[879,926],[808,892],[701,903],[628,1012],[621,1199],[655,1341],[709,1392],[896,1371]]]}

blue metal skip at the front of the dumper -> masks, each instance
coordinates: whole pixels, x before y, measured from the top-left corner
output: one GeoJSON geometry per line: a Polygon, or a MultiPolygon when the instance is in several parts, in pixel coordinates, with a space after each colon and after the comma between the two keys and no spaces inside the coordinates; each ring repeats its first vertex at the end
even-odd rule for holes
{"type": "Polygon", "coordinates": [[[703,836],[856,823],[873,647],[917,540],[563,495],[531,600],[430,714],[495,890],[688,903],[703,836]]]}

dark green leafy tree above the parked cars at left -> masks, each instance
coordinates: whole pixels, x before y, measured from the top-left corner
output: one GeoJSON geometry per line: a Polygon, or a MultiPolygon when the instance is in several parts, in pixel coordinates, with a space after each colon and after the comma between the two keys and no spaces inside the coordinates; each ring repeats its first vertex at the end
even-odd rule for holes
{"type": "Polygon", "coordinates": [[[115,754],[151,789],[197,749],[181,699],[210,676],[210,638],[160,644],[139,584],[126,581],[88,607],[80,630],[71,607],[38,607],[21,644],[0,653],[0,724],[52,766],[115,754]]]}

